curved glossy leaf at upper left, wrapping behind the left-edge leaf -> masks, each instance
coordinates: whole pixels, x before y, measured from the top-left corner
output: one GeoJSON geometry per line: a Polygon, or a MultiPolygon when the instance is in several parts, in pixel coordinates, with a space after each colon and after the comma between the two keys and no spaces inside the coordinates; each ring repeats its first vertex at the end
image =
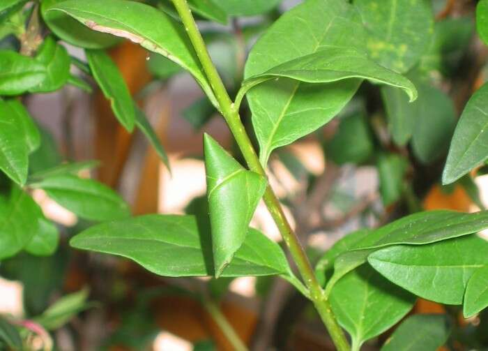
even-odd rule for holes
{"type": "Polygon", "coordinates": [[[36,87],[29,89],[32,93],[56,91],[68,82],[70,76],[70,57],[66,49],[48,36],[40,46],[36,60],[43,64],[47,77],[36,87]]]}

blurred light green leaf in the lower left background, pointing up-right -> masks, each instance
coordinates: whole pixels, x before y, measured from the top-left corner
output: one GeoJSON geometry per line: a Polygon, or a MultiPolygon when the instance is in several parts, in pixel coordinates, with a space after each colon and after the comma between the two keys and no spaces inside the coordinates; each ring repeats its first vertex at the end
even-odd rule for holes
{"type": "Polygon", "coordinates": [[[89,291],[86,289],[73,292],[61,297],[54,302],[44,313],[34,320],[41,324],[47,330],[55,330],[63,327],[75,315],[89,307],[86,299],[88,299],[89,291]]]}

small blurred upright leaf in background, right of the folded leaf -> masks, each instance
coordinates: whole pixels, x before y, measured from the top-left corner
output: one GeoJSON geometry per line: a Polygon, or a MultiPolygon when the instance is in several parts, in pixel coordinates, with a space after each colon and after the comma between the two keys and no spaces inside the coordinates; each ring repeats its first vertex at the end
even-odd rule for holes
{"type": "Polygon", "coordinates": [[[407,161],[399,154],[379,154],[376,167],[379,174],[379,192],[385,207],[402,197],[407,166],[407,161]]]}

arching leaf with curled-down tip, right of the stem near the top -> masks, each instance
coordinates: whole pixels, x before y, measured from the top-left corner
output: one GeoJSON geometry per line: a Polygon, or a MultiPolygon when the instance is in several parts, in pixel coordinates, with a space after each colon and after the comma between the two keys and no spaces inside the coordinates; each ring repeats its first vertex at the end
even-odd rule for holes
{"type": "Polygon", "coordinates": [[[348,78],[361,78],[374,83],[401,88],[410,101],[417,98],[415,86],[403,75],[388,70],[354,47],[321,45],[320,51],[298,57],[270,68],[264,73],[247,78],[243,89],[275,77],[287,77],[307,83],[337,82],[348,78]]]}

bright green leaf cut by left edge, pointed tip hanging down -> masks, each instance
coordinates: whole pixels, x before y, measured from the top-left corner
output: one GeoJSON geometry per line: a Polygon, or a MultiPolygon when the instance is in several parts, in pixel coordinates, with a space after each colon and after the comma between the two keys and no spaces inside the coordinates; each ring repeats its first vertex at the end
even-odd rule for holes
{"type": "Polygon", "coordinates": [[[0,170],[15,181],[24,185],[29,163],[29,144],[24,137],[24,114],[11,107],[17,103],[0,100],[0,170]]]}

